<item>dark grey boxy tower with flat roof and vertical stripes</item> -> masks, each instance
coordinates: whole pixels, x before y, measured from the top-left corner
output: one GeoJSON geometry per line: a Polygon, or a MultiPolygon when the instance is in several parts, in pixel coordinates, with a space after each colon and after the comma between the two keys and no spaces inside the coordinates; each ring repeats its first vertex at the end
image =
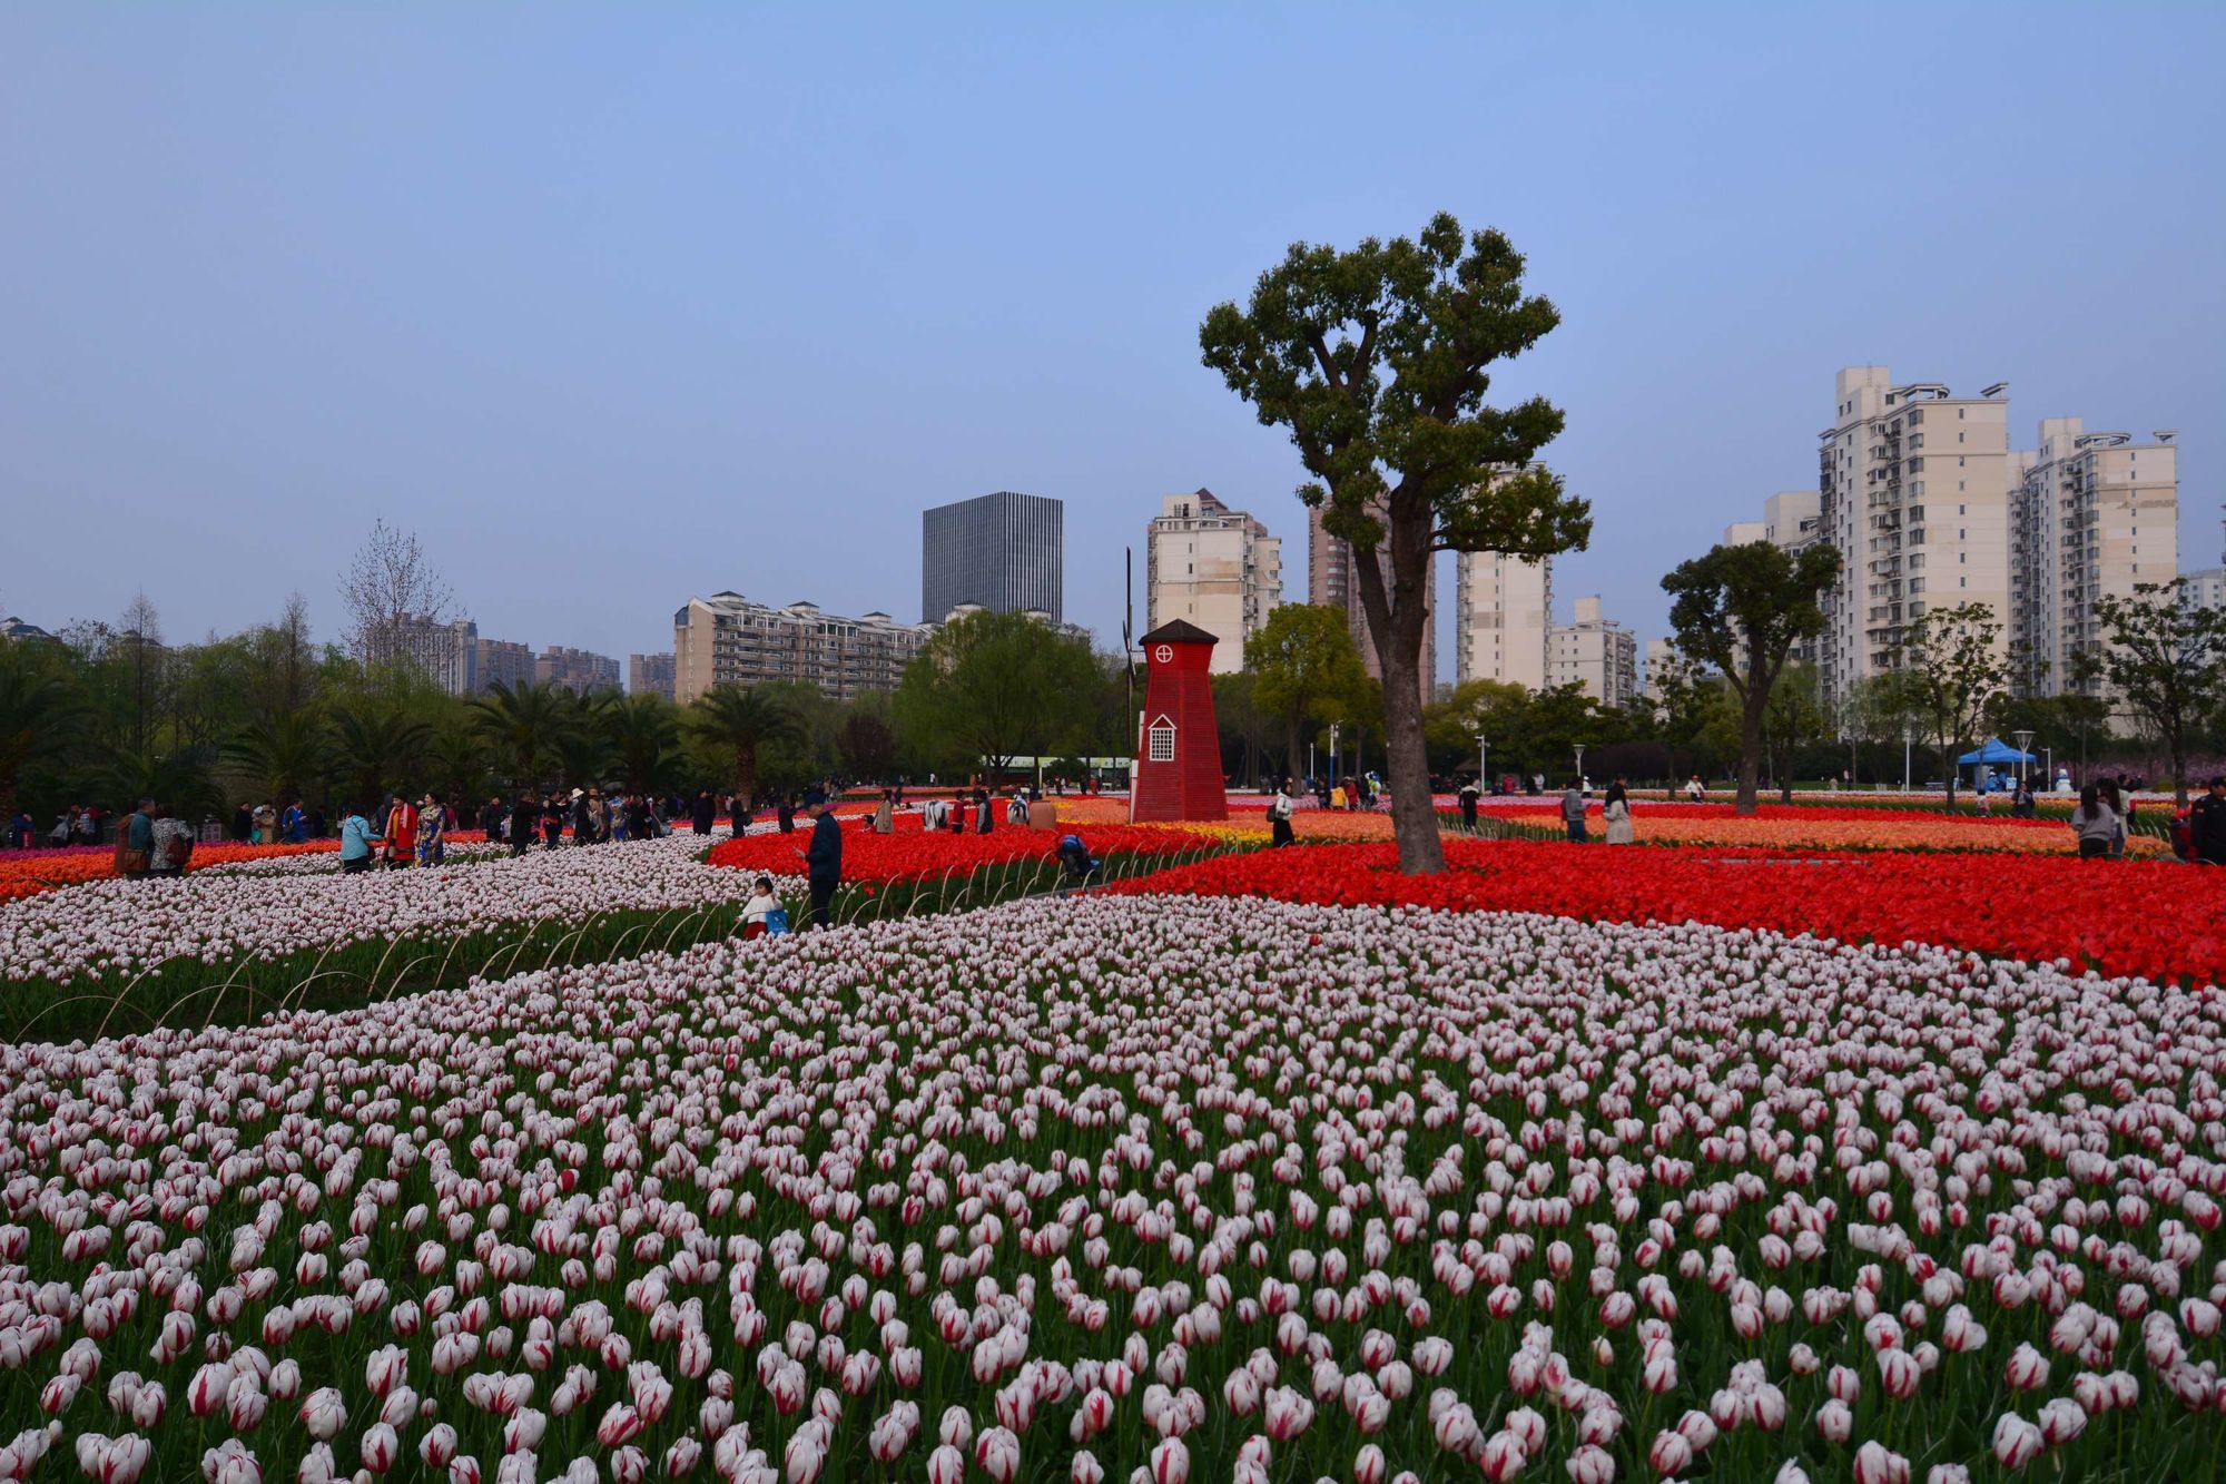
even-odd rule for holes
{"type": "Polygon", "coordinates": [[[1013,490],[922,512],[919,619],[939,624],[959,604],[975,604],[1066,622],[1064,526],[1057,499],[1013,490]]]}

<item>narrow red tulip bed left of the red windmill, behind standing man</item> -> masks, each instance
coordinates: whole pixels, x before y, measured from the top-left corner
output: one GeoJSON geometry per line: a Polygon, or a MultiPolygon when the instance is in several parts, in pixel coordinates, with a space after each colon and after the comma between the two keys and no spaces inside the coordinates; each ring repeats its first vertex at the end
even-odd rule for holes
{"type": "MultiPolygon", "coordinates": [[[[897,880],[942,880],[944,876],[968,876],[986,865],[1008,860],[1051,860],[1066,833],[1082,836],[1097,858],[1111,856],[1175,856],[1182,851],[1218,849],[1211,836],[1180,824],[1077,824],[1075,829],[1022,829],[997,824],[986,836],[977,833],[928,833],[919,827],[917,813],[897,816],[895,833],[877,836],[870,829],[848,827],[841,831],[841,876],[861,882],[897,880]]],[[[710,862],[737,871],[764,871],[768,876],[801,876],[804,847],[810,844],[810,824],[799,822],[797,833],[743,836],[721,840],[710,851],[710,862]]]]}

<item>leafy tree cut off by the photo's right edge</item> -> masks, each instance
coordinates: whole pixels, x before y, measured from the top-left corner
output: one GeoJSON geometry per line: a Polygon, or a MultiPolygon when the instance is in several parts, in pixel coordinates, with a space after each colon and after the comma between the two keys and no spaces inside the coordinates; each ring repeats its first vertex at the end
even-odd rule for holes
{"type": "Polygon", "coordinates": [[[2226,691],[2226,608],[2186,602],[2186,577],[2139,582],[2133,597],[2095,599],[2101,646],[2079,655],[2075,675],[2101,680],[2117,704],[2164,742],[2173,798],[2188,807],[2188,729],[2226,691]]]}

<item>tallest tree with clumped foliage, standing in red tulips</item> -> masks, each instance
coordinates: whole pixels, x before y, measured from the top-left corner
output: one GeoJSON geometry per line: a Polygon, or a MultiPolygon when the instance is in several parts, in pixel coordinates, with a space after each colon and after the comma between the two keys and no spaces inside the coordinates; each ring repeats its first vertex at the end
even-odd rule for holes
{"type": "Polygon", "coordinates": [[[1449,214],[1414,241],[1351,252],[1293,243],[1251,303],[1215,305],[1204,363],[1284,426],[1311,475],[1298,497],[1353,548],[1385,682],[1385,742],[1402,871],[1445,869],[1422,742],[1422,633],[1440,550],[1549,557],[1592,537],[1592,510],[1538,468],[1563,428],[1543,397],[1485,403],[1487,368],[1538,343],[1560,312],[1523,292],[1523,254],[1449,214]]]}

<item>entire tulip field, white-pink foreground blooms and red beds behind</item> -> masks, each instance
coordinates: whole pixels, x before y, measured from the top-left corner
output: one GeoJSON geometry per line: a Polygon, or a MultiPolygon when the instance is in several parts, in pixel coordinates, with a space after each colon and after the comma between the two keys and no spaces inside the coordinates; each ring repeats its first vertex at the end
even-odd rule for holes
{"type": "Polygon", "coordinates": [[[2226,1471],[2217,873],[1358,818],[0,902],[0,1480],[2226,1471]]]}

